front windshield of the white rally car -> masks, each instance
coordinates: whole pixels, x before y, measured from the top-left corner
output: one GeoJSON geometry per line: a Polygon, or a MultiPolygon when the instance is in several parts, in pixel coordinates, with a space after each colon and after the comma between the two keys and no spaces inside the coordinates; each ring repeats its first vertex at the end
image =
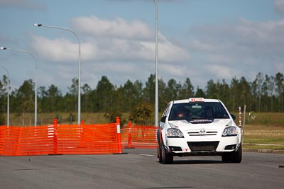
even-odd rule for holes
{"type": "Polygon", "coordinates": [[[222,103],[176,103],[170,110],[168,120],[214,120],[228,119],[229,115],[222,103]]]}

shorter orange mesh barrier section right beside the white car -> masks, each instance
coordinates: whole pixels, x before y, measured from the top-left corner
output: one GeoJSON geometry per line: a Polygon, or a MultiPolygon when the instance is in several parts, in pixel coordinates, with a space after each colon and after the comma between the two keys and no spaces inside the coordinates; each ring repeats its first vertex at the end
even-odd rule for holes
{"type": "Polygon", "coordinates": [[[128,127],[121,129],[122,147],[124,148],[156,148],[157,130],[155,126],[133,126],[129,122],[128,127]]]}

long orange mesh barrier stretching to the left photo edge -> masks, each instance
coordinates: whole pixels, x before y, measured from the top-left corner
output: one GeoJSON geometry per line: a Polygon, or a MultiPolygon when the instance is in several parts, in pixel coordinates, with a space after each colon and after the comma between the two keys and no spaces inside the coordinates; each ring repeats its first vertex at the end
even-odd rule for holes
{"type": "Polygon", "coordinates": [[[0,156],[121,153],[118,124],[1,126],[0,156]]]}

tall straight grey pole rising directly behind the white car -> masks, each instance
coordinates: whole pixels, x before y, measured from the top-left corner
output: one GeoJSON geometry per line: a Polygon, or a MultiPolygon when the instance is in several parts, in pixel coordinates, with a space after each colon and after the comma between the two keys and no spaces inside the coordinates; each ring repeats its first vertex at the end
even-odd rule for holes
{"type": "Polygon", "coordinates": [[[155,4],[155,126],[158,126],[158,4],[155,4]]]}

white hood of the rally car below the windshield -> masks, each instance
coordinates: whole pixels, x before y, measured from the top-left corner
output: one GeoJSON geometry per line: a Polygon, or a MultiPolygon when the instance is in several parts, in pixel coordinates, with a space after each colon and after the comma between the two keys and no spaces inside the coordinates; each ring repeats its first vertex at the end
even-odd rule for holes
{"type": "Polygon", "coordinates": [[[175,120],[168,122],[170,127],[178,128],[181,131],[187,130],[224,130],[224,127],[236,125],[231,119],[214,119],[210,122],[188,122],[187,120],[175,120]]]}

